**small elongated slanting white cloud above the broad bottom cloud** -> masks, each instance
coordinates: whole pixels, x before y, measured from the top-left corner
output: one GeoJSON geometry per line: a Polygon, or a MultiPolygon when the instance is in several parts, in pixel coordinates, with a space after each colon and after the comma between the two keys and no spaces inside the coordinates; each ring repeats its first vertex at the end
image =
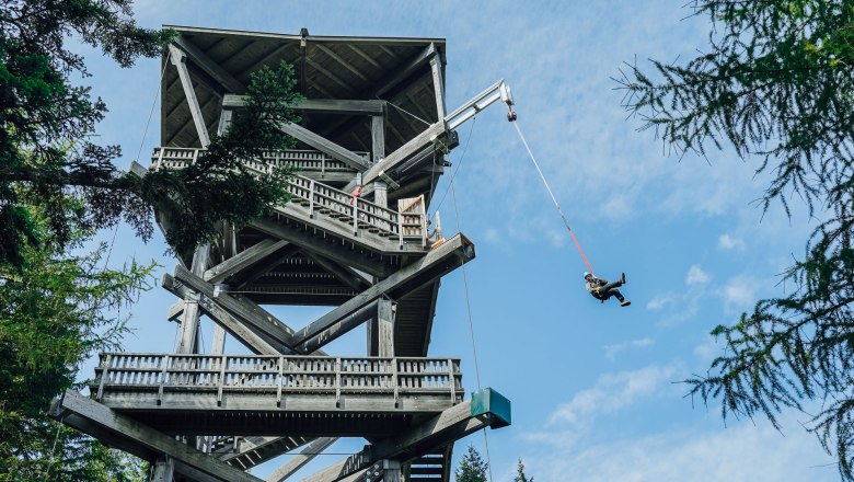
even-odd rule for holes
{"type": "Polygon", "coordinates": [[[593,388],[582,390],[552,413],[551,425],[579,425],[590,422],[599,414],[613,413],[631,405],[635,399],[650,397],[658,392],[662,383],[669,383],[676,372],[674,366],[653,365],[634,371],[605,374],[593,388]]]}

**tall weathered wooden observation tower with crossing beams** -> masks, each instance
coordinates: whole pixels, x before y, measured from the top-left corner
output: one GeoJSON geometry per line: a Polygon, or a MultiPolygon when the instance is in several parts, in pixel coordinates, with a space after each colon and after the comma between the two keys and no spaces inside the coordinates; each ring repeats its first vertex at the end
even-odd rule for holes
{"type": "MultiPolygon", "coordinates": [[[[178,298],[175,353],[102,354],[90,397],[67,392],[51,415],[152,461],[154,481],[258,481],[246,470],[291,454],[267,478],[281,481],[338,437],[367,445],[305,481],[449,481],[454,441],[508,425],[510,405],[491,389],[465,397],[460,359],[428,354],[441,277],[474,245],[428,233],[426,213],[454,128],[511,105],[509,90],[499,81],[446,112],[440,38],[172,28],[148,170],[194,162],[243,105],[250,73],[284,59],[305,97],[302,123],[281,126],[299,145],[245,162],[258,175],[299,168],[292,200],[180,253],[162,283],[178,298]],[[332,309],[295,329],[269,305],[332,309]],[[199,353],[201,315],[216,323],[210,353],[199,353]],[[363,354],[324,352],[362,323],[363,354]],[[224,354],[227,336],[252,355],[224,354]]],[[[159,213],[163,230],[176,222],[159,213]]]]}

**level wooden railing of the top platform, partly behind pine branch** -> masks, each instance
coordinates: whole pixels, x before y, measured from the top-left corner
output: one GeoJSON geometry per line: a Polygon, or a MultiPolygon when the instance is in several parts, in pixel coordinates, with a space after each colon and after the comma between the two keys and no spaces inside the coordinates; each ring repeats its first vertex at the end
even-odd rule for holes
{"type": "MultiPolygon", "coordinates": [[[[198,159],[205,152],[205,149],[192,149],[180,147],[155,147],[151,154],[151,169],[161,168],[182,169],[198,159]]],[[[368,160],[368,152],[356,152],[368,160]]],[[[287,167],[296,168],[303,172],[318,173],[323,176],[327,172],[349,172],[356,175],[356,170],[337,161],[330,156],[314,150],[285,150],[265,152],[261,160],[245,160],[246,164],[254,165],[257,170],[264,170],[263,167],[287,167]]]]}

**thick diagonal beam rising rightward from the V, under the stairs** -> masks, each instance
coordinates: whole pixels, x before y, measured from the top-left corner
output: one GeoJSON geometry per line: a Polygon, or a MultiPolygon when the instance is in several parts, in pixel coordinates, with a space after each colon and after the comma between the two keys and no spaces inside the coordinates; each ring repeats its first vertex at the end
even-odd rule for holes
{"type": "Polygon", "coordinates": [[[401,298],[473,259],[474,244],[462,234],[457,234],[424,257],[400,268],[385,279],[296,332],[292,337],[293,346],[300,345],[330,329],[382,296],[401,298]]]}

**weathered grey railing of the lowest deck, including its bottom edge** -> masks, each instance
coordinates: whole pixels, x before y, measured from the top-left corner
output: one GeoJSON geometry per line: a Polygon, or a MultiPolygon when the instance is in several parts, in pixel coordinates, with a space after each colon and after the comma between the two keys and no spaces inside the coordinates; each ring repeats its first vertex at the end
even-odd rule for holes
{"type": "MultiPolygon", "coordinates": [[[[103,354],[92,390],[120,411],[438,412],[462,400],[460,360],[103,354]]],[[[186,412],[187,416],[191,415],[186,412]]]]}

